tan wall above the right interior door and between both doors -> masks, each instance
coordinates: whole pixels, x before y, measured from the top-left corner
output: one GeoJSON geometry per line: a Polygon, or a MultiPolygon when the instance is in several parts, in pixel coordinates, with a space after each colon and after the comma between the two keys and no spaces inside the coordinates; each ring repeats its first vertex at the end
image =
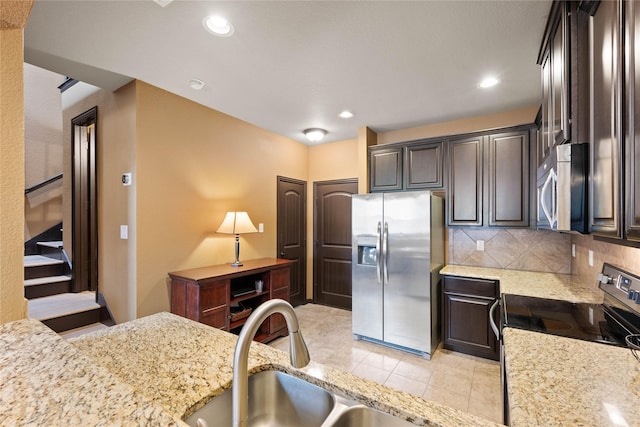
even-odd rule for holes
{"type": "Polygon", "coordinates": [[[313,183],[358,176],[358,140],[347,139],[309,147],[307,188],[307,298],[313,298],[313,183]]]}

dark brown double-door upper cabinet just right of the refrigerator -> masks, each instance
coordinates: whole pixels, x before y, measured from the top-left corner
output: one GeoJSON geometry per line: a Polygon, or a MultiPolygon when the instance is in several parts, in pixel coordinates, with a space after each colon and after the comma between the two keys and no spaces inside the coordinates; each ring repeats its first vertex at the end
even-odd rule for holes
{"type": "Polygon", "coordinates": [[[449,141],[448,225],[529,225],[531,132],[527,127],[449,141]]]}

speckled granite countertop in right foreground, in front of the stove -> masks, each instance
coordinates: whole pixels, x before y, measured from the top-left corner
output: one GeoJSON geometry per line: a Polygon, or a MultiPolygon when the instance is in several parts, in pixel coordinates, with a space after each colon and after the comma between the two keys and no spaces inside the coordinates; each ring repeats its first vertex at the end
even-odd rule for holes
{"type": "Polygon", "coordinates": [[[611,345],[504,329],[511,426],[639,426],[640,362],[611,345]]]}

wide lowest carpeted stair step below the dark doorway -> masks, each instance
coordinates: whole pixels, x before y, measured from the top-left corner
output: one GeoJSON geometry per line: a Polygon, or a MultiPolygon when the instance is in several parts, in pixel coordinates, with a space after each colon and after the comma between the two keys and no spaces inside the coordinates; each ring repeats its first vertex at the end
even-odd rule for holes
{"type": "Polygon", "coordinates": [[[29,300],[28,304],[29,317],[40,321],[84,311],[100,310],[100,305],[96,303],[95,292],[90,291],[36,298],[29,300]]]}

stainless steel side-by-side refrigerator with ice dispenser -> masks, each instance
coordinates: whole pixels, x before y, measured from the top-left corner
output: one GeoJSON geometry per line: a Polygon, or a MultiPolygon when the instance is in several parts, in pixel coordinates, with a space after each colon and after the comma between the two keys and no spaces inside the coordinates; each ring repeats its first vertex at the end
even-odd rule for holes
{"type": "Polygon", "coordinates": [[[443,201],[430,191],[352,197],[354,339],[419,353],[440,342],[443,201]]]}

